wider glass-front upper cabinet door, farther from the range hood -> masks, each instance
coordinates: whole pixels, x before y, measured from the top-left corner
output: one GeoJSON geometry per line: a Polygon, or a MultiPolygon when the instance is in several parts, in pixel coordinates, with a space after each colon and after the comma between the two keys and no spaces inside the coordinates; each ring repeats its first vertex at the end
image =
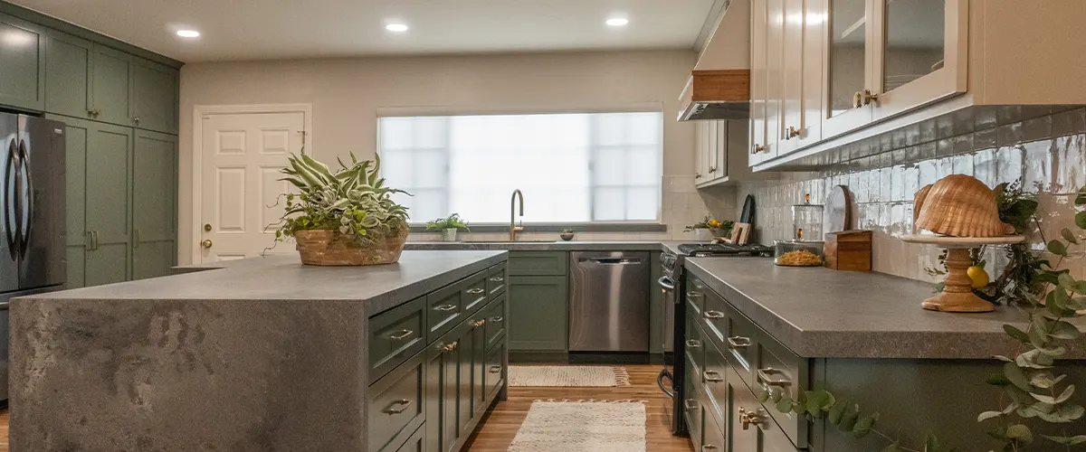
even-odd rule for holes
{"type": "Polygon", "coordinates": [[[965,92],[968,0],[871,1],[874,120],[965,92]]]}

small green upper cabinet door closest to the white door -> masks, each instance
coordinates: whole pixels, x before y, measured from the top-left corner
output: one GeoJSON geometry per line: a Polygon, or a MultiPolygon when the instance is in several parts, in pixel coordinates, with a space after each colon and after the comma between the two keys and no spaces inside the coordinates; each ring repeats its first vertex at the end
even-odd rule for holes
{"type": "Polygon", "coordinates": [[[135,59],[132,124],[140,129],[177,133],[177,69],[135,59]]]}

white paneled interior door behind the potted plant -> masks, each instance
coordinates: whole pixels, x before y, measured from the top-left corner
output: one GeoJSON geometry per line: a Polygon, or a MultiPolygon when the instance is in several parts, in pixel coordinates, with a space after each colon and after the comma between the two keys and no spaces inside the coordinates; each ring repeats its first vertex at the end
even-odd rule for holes
{"type": "MultiPolygon", "coordinates": [[[[300,154],[305,113],[209,114],[201,124],[199,202],[202,262],[243,259],[275,245],[288,183],[287,157],[300,154]],[[277,205],[278,201],[278,205],[277,205]]],[[[278,244],[273,253],[292,253],[278,244]]]]}

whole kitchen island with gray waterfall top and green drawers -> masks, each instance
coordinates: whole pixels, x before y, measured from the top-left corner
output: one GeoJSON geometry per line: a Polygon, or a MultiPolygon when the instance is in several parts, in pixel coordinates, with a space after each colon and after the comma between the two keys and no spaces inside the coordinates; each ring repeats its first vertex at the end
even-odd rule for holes
{"type": "Polygon", "coordinates": [[[506,260],[287,255],[15,299],[11,448],[459,449],[505,393],[506,260]]]}

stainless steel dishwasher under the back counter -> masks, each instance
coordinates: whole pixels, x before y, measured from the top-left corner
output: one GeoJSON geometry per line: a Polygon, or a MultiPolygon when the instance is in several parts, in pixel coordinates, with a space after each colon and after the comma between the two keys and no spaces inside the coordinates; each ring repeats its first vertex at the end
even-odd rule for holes
{"type": "Polygon", "coordinates": [[[570,253],[569,350],[648,351],[648,253],[570,253]]]}

